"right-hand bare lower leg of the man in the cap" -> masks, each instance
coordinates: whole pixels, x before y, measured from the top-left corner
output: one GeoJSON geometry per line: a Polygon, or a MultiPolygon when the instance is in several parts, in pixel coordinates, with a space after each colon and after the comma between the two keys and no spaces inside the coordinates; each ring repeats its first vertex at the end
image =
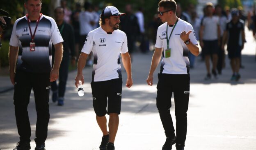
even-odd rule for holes
{"type": "Polygon", "coordinates": [[[109,128],[109,135],[110,139],[109,142],[114,143],[114,140],[117,135],[117,130],[118,130],[118,125],[119,125],[119,116],[117,113],[110,113],[110,120],[108,123],[108,128],[109,128]]]}

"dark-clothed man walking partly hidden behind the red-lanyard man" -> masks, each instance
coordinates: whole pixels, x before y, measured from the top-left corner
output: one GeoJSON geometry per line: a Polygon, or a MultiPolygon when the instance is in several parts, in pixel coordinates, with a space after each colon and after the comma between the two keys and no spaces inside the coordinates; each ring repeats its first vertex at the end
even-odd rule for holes
{"type": "MultiPolygon", "coordinates": [[[[71,25],[64,21],[64,9],[62,7],[57,7],[54,10],[55,21],[59,29],[60,34],[64,40],[63,42],[63,57],[62,62],[59,67],[59,86],[57,81],[53,81],[52,85],[52,101],[58,101],[58,105],[64,105],[64,94],[66,90],[66,81],[69,74],[69,62],[71,55],[71,64],[75,66],[75,41],[74,41],[74,31],[71,25]]],[[[53,47],[53,62],[55,59],[55,48],[53,47]]]]}

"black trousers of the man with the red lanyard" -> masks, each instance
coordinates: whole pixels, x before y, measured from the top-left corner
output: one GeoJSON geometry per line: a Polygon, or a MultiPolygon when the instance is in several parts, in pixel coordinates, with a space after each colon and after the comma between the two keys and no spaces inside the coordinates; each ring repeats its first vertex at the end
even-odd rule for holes
{"type": "Polygon", "coordinates": [[[49,113],[50,73],[35,74],[17,71],[14,85],[14,105],[16,124],[21,141],[29,141],[31,136],[27,105],[33,88],[37,111],[36,143],[44,143],[47,137],[49,113]]]}

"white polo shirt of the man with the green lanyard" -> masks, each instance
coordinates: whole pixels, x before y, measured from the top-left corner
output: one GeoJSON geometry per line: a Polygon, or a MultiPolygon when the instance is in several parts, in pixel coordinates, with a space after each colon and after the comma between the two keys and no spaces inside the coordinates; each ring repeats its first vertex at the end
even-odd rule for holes
{"type": "Polygon", "coordinates": [[[165,50],[167,49],[167,39],[166,39],[166,26],[168,31],[168,39],[171,34],[173,27],[169,27],[167,22],[163,23],[158,27],[157,37],[155,47],[163,48],[163,59],[161,63],[160,73],[164,74],[189,74],[189,59],[188,59],[188,48],[184,41],[181,40],[182,31],[190,31],[189,38],[190,42],[197,45],[197,39],[195,37],[194,29],[190,23],[179,19],[176,27],[174,28],[171,38],[169,40],[169,48],[171,49],[171,56],[165,58],[165,50]]]}

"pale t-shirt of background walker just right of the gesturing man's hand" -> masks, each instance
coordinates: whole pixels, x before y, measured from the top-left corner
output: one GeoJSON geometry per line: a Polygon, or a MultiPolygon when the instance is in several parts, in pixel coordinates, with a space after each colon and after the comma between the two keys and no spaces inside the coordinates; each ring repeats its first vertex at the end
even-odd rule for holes
{"type": "Polygon", "coordinates": [[[219,17],[203,17],[202,24],[203,29],[203,40],[217,40],[218,39],[218,25],[219,17]]]}

